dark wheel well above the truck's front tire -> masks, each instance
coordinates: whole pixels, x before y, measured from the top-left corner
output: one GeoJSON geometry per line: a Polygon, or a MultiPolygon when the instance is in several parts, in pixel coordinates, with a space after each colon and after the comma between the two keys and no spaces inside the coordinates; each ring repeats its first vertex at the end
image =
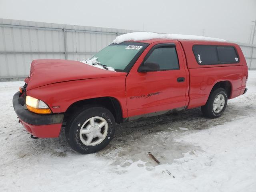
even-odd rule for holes
{"type": "Polygon", "coordinates": [[[77,101],[68,107],[64,114],[64,120],[67,120],[74,112],[88,104],[107,108],[113,114],[117,123],[121,123],[123,120],[121,105],[114,97],[100,97],[77,101]]]}

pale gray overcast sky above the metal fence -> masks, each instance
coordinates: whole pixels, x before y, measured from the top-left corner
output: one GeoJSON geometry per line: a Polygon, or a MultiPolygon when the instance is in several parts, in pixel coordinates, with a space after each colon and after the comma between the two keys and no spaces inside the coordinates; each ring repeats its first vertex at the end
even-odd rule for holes
{"type": "Polygon", "coordinates": [[[204,30],[204,36],[248,43],[256,0],[0,0],[0,18],[193,35],[204,30]]]}

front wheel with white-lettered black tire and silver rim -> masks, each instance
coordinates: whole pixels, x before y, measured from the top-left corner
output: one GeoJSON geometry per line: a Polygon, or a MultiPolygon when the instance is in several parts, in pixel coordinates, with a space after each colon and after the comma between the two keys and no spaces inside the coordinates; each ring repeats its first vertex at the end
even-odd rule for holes
{"type": "Polygon", "coordinates": [[[105,148],[114,136],[115,119],[104,107],[85,108],[73,115],[65,135],[70,146],[81,154],[98,152],[105,148]]]}

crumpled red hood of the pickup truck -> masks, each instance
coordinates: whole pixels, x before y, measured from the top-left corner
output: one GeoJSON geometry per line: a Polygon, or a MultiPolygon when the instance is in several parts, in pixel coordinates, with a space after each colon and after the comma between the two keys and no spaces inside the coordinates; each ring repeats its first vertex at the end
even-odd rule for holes
{"type": "Polygon", "coordinates": [[[30,76],[25,82],[28,84],[26,89],[30,90],[58,82],[126,75],[125,72],[108,71],[80,61],[40,59],[32,61],[30,76]]]}

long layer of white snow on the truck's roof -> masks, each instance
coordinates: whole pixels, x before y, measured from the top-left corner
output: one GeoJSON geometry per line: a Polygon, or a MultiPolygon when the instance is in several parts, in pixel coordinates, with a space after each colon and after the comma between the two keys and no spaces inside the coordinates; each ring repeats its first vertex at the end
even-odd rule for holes
{"type": "Polygon", "coordinates": [[[142,41],[149,39],[181,39],[181,40],[207,40],[207,41],[220,41],[226,42],[224,39],[204,37],[196,35],[181,35],[181,34],[158,34],[152,32],[133,32],[126,33],[116,37],[113,41],[115,44],[120,44],[124,41],[142,41]]]}

